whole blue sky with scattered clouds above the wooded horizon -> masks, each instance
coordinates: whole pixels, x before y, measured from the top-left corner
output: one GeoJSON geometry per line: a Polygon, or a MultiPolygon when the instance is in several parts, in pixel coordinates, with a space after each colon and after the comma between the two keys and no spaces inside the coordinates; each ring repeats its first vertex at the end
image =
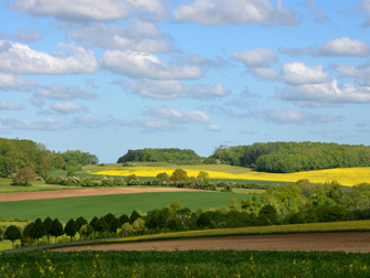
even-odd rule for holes
{"type": "Polygon", "coordinates": [[[370,0],[0,0],[0,137],[369,145],[370,0]]]}

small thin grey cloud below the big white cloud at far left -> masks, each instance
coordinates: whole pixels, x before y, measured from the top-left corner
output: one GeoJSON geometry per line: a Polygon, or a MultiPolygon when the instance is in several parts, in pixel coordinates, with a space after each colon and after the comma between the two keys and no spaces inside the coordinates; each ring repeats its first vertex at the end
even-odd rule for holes
{"type": "Polygon", "coordinates": [[[85,87],[70,87],[70,86],[61,86],[61,85],[47,85],[47,86],[36,86],[35,96],[49,98],[49,99],[95,99],[97,95],[92,93],[88,88],[85,87]]]}

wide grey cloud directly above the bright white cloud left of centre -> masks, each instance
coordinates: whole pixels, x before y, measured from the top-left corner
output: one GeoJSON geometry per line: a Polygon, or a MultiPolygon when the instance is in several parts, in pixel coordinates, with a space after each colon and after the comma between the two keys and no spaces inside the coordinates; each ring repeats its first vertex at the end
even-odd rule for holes
{"type": "Polygon", "coordinates": [[[166,35],[155,23],[134,20],[129,28],[108,26],[105,23],[89,24],[62,22],[67,36],[81,44],[110,50],[131,50],[148,53],[170,53],[176,50],[167,42],[166,35]]]}

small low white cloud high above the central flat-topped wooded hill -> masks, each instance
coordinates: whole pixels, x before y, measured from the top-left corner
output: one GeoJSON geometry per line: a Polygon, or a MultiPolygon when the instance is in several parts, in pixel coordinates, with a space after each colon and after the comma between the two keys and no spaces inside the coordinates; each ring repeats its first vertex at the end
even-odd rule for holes
{"type": "Polygon", "coordinates": [[[145,113],[145,115],[162,118],[173,122],[198,122],[198,124],[210,124],[211,119],[202,111],[181,111],[172,108],[151,108],[145,113]]]}

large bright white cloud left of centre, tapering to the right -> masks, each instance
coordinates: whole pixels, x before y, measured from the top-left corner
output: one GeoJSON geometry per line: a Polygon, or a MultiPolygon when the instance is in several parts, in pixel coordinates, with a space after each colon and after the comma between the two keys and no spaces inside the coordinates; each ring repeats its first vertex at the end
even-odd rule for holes
{"type": "Polygon", "coordinates": [[[149,53],[106,51],[101,60],[105,70],[126,74],[134,78],[193,79],[202,77],[197,66],[168,64],[149,53]]]}

